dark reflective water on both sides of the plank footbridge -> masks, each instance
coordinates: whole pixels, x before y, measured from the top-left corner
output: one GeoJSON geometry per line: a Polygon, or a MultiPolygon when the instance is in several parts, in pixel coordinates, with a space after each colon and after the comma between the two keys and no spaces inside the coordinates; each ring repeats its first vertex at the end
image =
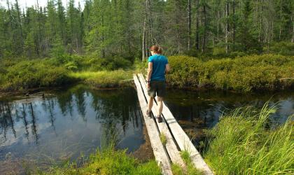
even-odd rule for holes
{"type": "MultiPolygon", "coordinates": [[[[118,148],[128,148],[129,152],[145,143],[134,88],[90,90],[85,85],[76,85],[45,94],[45,97],[0,99],[0,174],[1,162],[7,160],[50,164],[79,159],[81,153],[93,153],[113,134],[118,138],[118,148]]],[[[200,148],[204,130],[214,127],[223,111],[240,106],[261,108],[268,100],[270,105],[279,102],[271,118],[273,123],[284,123],[294,113],[294,92],[168,90],[165,102],[200,148]]]]}

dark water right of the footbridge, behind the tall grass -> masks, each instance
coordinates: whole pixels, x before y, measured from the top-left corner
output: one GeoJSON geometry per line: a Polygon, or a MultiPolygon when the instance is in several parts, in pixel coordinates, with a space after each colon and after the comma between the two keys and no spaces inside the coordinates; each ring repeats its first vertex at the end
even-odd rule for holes
{"type": "Polygon", "coordinates": [[[200,146],[206,137],[204,130],[214,127],[224,111],[241,106],[261,109],[267,101],[269,106],[278,102],[277,111],[270,118],[274,125],[284,123],[294,114],[294,91],[237,94],[220,90],[168,90],[165,102],[194,144],[200,146]]]}

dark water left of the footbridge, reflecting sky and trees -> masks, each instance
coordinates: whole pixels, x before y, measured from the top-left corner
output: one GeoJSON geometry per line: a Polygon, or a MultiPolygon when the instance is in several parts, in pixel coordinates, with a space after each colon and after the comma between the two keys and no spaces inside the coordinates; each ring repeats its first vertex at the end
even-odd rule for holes
{"type": "MultiPolygon", "coordinates": [[[[43,98],[0,100],[0,160],[76,160],[105,144],[136,151],[144,144],[137,92],[77,85],[43,98]]],[[[1,174],[1,168],[0,168],[1,174]]]]}

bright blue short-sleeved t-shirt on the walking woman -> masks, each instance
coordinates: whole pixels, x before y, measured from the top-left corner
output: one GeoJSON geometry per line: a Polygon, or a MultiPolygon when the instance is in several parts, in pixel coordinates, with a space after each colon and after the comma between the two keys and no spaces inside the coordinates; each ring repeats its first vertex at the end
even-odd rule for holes
{"type": "Polygon", "coordinates": [[[164,55],[152,55],[148,58],[148,62],[153,63],[152,80],[165,80],[165,66],[169,63],[164,55]]]}

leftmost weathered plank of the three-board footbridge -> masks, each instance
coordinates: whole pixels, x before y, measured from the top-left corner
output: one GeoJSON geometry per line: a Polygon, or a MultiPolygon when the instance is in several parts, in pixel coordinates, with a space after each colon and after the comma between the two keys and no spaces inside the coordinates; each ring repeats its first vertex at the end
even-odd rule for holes
{"type": "Polygon", "coordinates": [[[155,160],[158,162],[162,169],[162,174],[172,174],[172,167],[169,162],[169,157],[165,151],[165,148],[162,146],[162,143],[160,141],[160,135],[158,132],[158,128],[155,125],[155,122],[153,118],[148,118],[146,116],[146,111],[147,111],[147,103],[146,99],[144,97],[144,93],[141,89],[141,85],[139,83],[139,80],[136,75],[133,75],[134,77],[134,83],[137,87],[137,94],[139,98],[139,104],[141,106],[141,111],[144,116],[148,136],[151,142],[151,147],[153,148],[153,153],[155,156],[155,160]]]}

